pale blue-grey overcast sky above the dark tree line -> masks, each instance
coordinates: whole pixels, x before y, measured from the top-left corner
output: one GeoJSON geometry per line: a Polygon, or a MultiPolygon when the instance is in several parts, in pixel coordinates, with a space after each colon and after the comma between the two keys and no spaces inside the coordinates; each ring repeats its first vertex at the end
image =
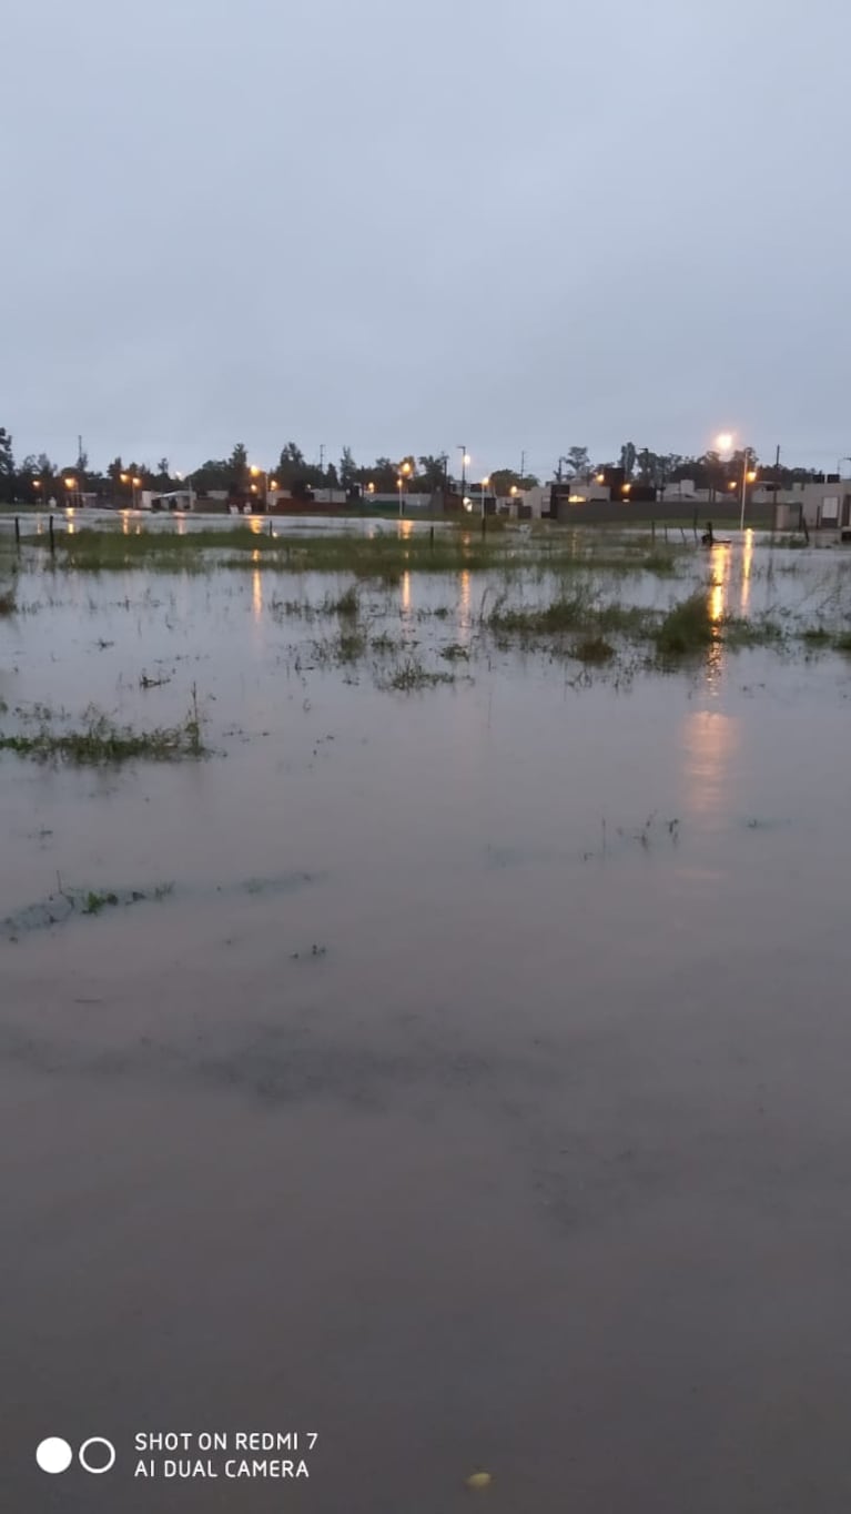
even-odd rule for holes
{"type": "Polygon", "coordinates": [[[0,425],[851,454],[848,0],[3,0],[0,425]]]}

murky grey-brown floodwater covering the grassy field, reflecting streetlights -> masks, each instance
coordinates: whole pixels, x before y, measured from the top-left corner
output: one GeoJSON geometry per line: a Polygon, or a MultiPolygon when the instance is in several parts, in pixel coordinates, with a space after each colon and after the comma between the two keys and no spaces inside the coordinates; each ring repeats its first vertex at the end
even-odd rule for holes
{"type": "MultiPolygon", "coordinates": [[[[842,619],[846,562],[718,583],[842,619]]],[[[463,577],[365,590],[456,675],[406,693],[282,609],[338,580],[21,575],[0,728],[195,686],[210,755],[0,755],[5,1508],[851,1499],[851,659],[577,680],[463,577]],[[168,1431],[318,1440],[135,1476],[168,1431]],[[47,1476],[48,1435],[117,1464],[47,1476]]]]}

